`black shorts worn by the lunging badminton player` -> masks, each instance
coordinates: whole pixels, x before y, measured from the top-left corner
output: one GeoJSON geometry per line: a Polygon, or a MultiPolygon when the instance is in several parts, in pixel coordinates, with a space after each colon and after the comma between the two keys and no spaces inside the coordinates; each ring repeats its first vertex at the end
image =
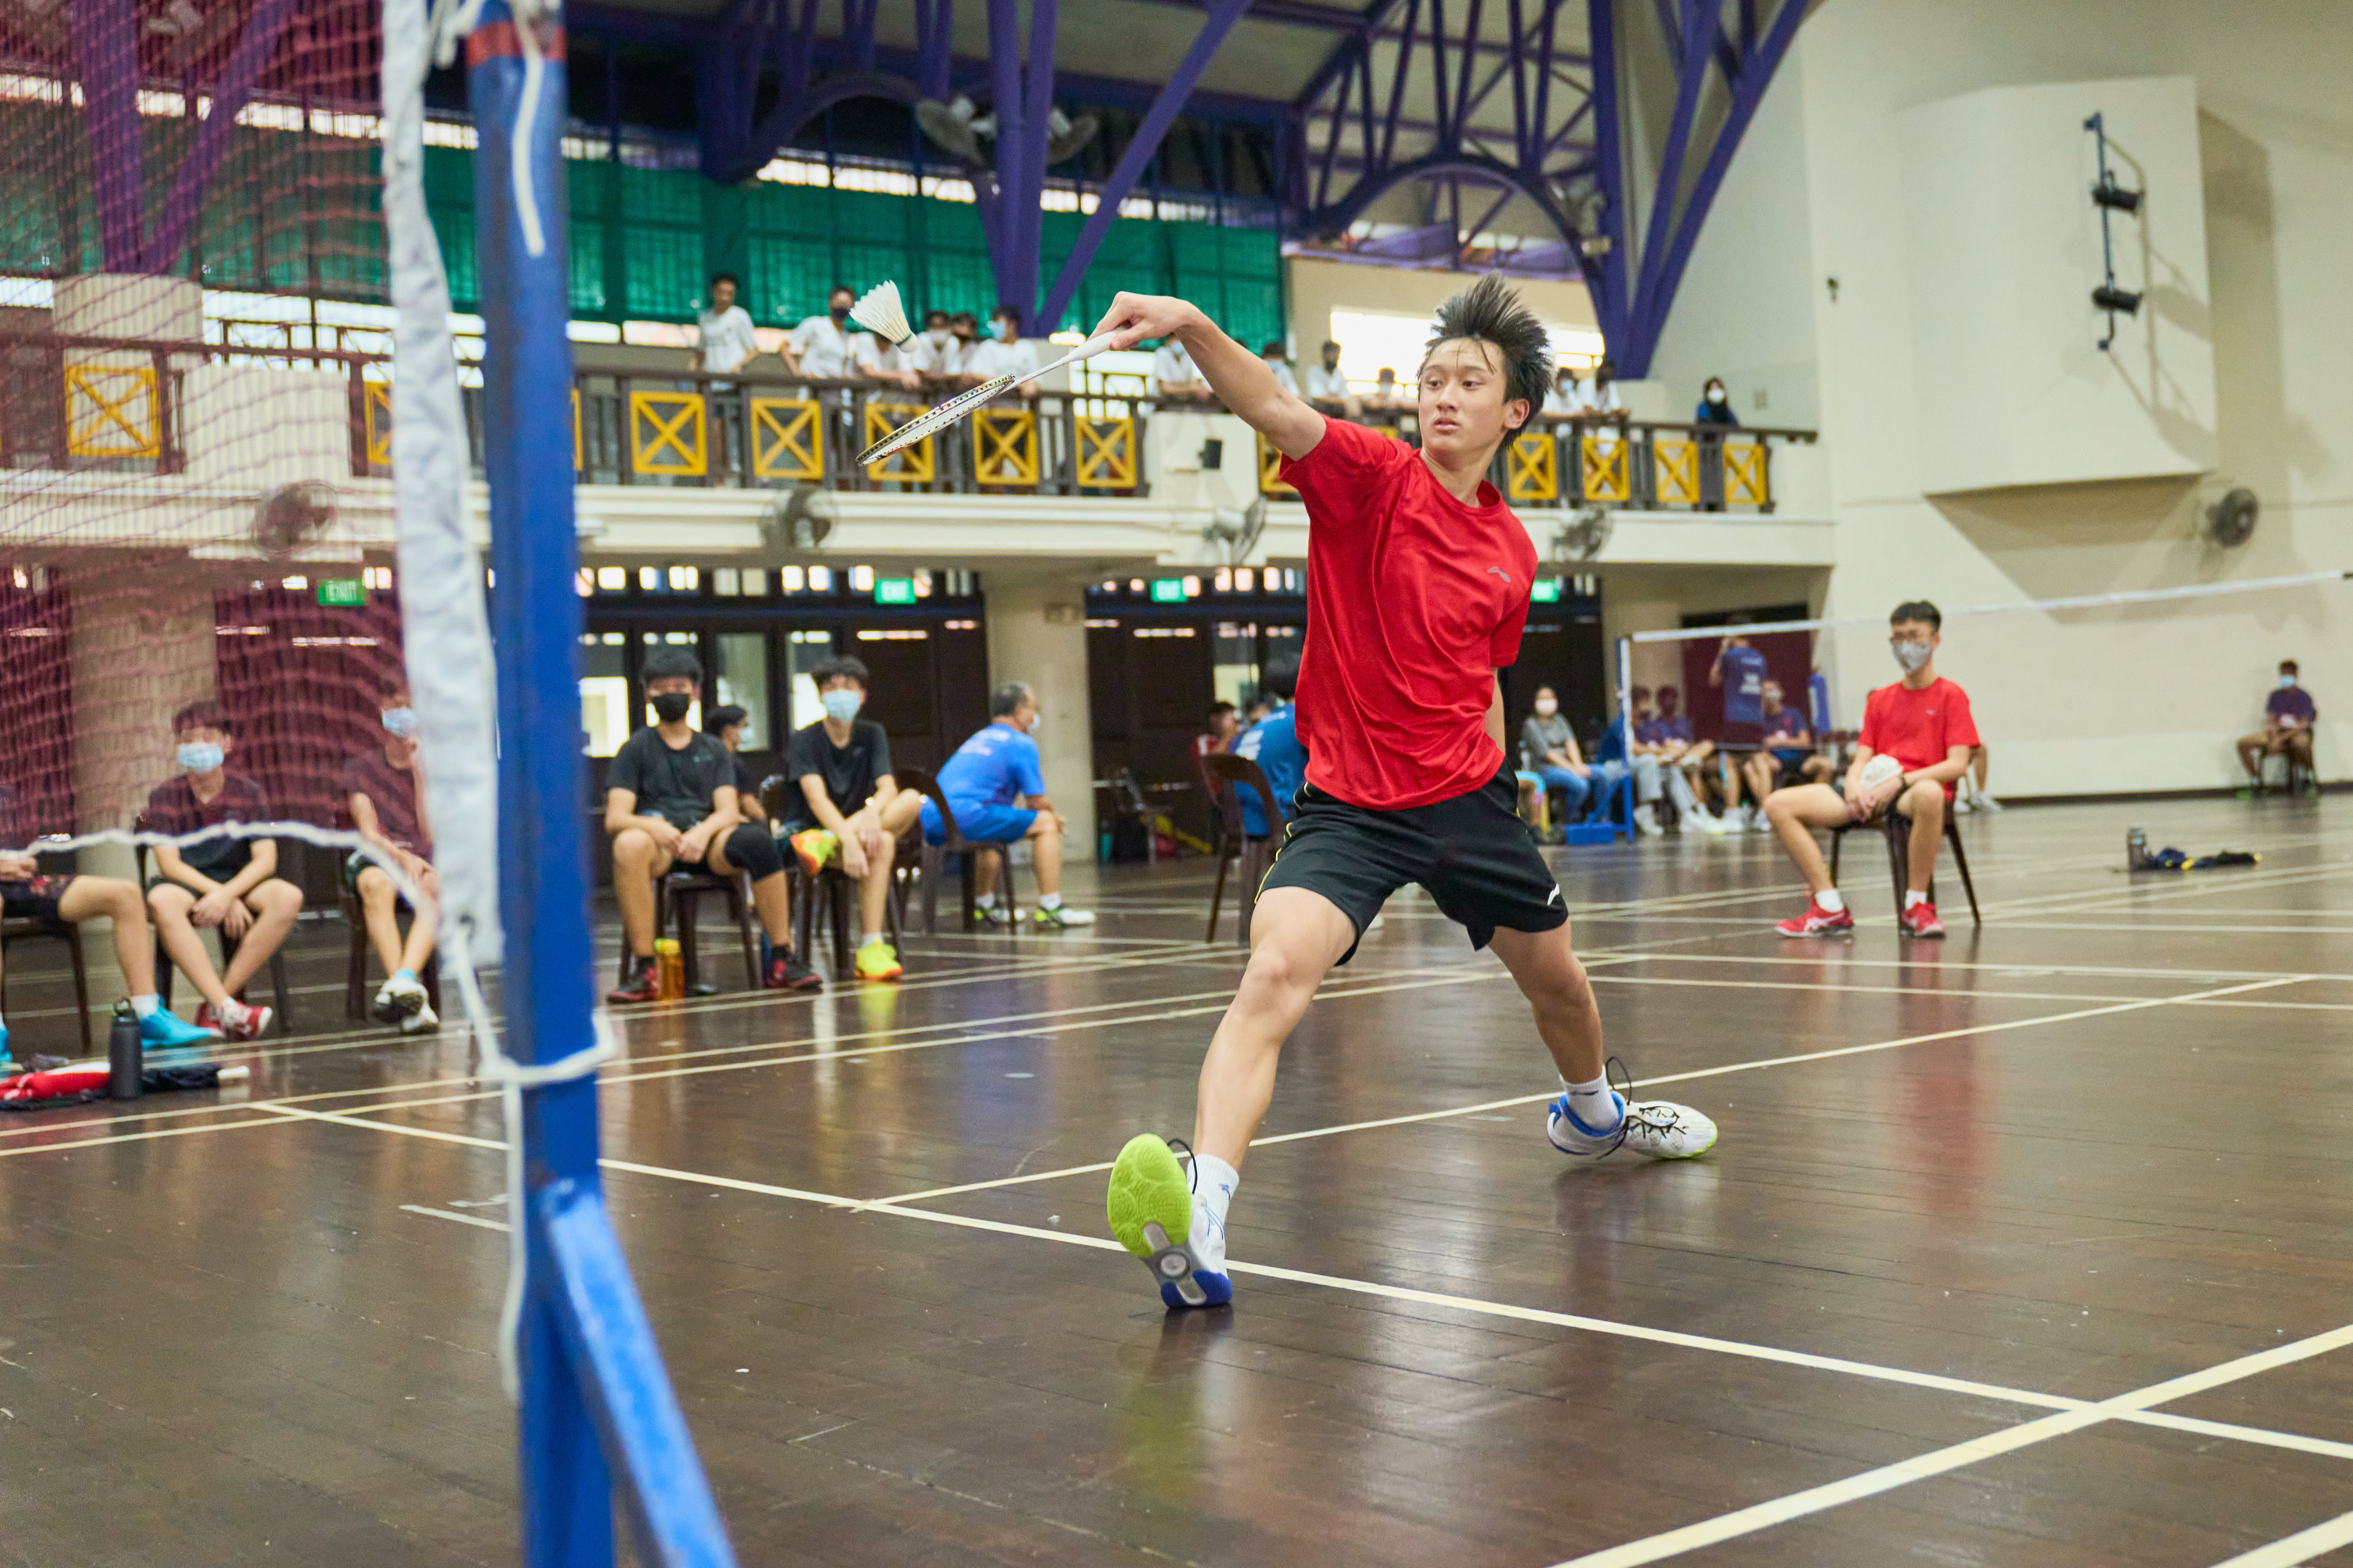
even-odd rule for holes
{"type": "MultiPolygon", "coordinates": [[[[1569,919],[1553,870],[1537,853],[1518,813],[1518,780],[1506,762],[1492,780],[1454,799],[1402,811],[1372,811],[1299,788],[1299,811],[1259,891],[1278,886],[1322,893],[1358,940],[1388,896],[1419,882],[1438,910],[1485,947],[1497,926],[1551,931],[1569,919]]],[[[1341,964],[1355,957],[1355,943],[1341,964]]]]}

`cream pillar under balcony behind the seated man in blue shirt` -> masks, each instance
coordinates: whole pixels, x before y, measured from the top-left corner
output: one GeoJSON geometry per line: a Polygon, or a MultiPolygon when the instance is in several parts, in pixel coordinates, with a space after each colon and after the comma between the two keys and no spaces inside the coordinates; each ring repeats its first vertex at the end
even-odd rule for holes
{"type": "Polygon", "coordinates": [[[1094,726],[1087,715],[1087,578],[1052,567],[981,578],[988,684],[1019,679],[1038,693],[1045,792],[1071,820],[1066,860],[1094,858],[1094,726]]]}

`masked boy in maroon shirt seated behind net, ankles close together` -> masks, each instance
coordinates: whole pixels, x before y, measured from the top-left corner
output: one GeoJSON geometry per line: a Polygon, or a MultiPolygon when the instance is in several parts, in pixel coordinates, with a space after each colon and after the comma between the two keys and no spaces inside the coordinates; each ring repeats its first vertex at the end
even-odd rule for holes
{"type": "MultiPolygon", "coordinates": [[[[148,832],[186,837],[226,823],[266,823],[271,802],[261,785],[228,771],[235,733],[219,703],[188,703],[172,715],[179,741],[179,778],[155,785],[146,804],[148,832]]],[[[226,1039],[254,1039],[271,1023],[271,1009],[245,1006],[238,994],[294,931],[301,889],[278,875],[278,842],[219,837],[195,844],[158,844],[148,910],[155,933],[179,973],[205,997],[198,1027],[219,1027],[226,1039]],[[228,973],[214,973],[198,929],[219,926],[235,952],[228,973]]],[[[118,943],[120,945],[120,943],[118,943]]]]}

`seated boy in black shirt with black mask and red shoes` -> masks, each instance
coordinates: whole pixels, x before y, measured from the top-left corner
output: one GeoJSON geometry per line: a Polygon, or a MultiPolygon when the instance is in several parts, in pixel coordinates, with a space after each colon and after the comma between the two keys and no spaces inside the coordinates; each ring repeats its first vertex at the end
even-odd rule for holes
{"type": "Polygon", "coordinates": [[[751,877],[753,905],[769,945],[760,985],[821,985],[816,971],[793,957],[793,898],[776,835],[744,820],[734,759],[718,738],[687,724],[701,684],[704,668],[694,654],[668,644],[652,649],[645,656],[645,696],[656,724],[624,741],[605,773],[612,893],[621,905],[621,936],[631,959],[628,980],[607,994],[609,1001],[652,1001],[659,994],[654,882],[673,867],[751,877]]]}

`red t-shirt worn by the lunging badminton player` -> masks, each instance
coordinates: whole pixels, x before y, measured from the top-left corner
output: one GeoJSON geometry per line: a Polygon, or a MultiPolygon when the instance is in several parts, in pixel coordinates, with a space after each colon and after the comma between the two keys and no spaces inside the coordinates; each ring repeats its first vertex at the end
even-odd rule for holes
{"type": "Polygon", "coordinates": [[[1282,480],[1308,505],[1308,783],[1402,811],[1478,790],[1494,672],[1520,658],[1537,545],[1492,484],[1464,505],[1405,442],[1325,418],[1282,480]]]}

